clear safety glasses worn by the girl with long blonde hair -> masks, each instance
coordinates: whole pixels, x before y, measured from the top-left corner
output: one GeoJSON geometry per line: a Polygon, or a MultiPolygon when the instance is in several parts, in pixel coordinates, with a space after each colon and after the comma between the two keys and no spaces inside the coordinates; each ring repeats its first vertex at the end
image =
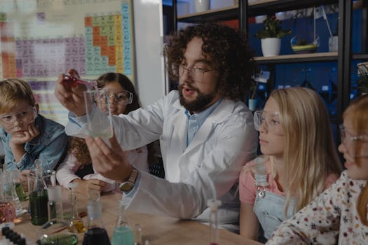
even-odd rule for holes
{"type": "Polygon", "coordinates": [[[261,125],[266,127],[266,130],[273,134],[283,135],[284,130],[280,124],[278,112],[271,111],[255,111],[254,112],[254,127],[259,131],[261,125]]]}

